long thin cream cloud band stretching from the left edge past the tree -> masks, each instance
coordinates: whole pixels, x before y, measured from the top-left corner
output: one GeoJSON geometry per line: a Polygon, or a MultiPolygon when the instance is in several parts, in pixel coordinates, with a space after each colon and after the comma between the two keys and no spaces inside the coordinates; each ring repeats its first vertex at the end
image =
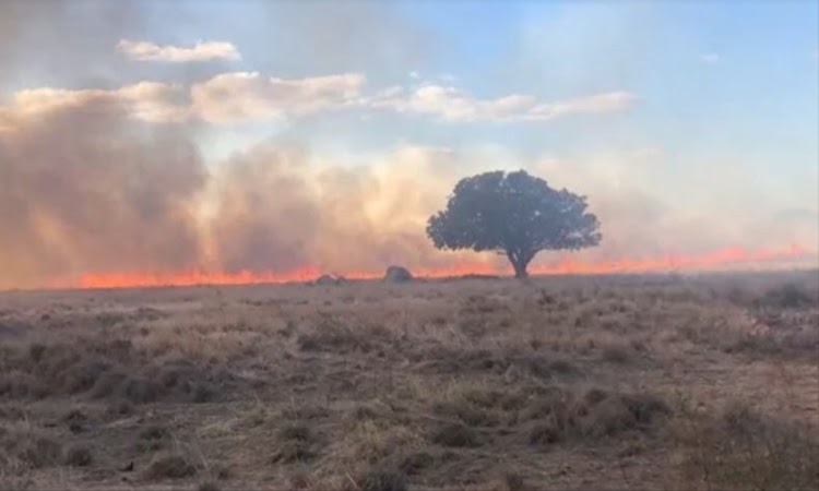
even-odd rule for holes
{"type": "MultiPolygon", "coordinates": [[[[365,76],[358,73],[278,79],[258,72],[230,72],[194,83],[188,88],[159,82],[140,82],[111,91],[27,89],[13,95],[12,106],[15,112],[22,115],[104,100],[114,103],[109,107],[122,108],[131,117],[144,121],[199,119],[213,124],[281,121],[340,109],[427,115],[448,122],[505,122],[547,121],[571,115],[617,112],[629,109],[637,100],[627,92],[551,103],[523,94],[478,99],[460,88],[438,84],[422,84],[412,89],[396,85],[366,94],[365,83],[365,76]]],[[[370,115],[364,113],[365,117],[370,115]]]]}

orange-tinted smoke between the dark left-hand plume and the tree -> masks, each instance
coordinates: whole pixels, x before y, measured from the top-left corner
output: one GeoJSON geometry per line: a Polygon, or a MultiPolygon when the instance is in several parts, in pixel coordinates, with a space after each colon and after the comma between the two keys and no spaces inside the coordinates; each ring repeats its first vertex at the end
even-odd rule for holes
{"type": "Polygon", "coordinates": [[[213,262],[228,272],[310,265],[339,273],[444,264],[452,256],[424,230],[451,185],[435,170],[448,159],[447,151],[402,147],[345,168],[298,147],[259,144],[214,175],[213,262]]]}

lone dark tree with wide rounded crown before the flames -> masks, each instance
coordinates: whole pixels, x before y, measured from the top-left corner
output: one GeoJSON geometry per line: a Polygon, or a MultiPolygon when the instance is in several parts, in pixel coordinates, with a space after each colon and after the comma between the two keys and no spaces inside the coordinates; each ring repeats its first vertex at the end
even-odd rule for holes
{"type": "Polygon", "coordinates": [[[524,170],[484,172],[455,184],[447,209],[429,217],[427,235],[438,249],[506,254],[514,276],[524,278],[539,251],[600,243],[597,217],[585,209],[585,196],[524,170]]]}

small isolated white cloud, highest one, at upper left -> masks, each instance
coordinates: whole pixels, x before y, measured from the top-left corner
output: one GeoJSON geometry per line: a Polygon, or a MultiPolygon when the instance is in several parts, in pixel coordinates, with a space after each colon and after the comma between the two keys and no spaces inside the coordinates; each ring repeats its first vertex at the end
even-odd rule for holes
{"type": "Polygon", "coordinates": [[[159,46],[150,41],[122,39],[117,49],[129,58],[139,61],[163,61],[186,63],[192,61],[238,60],[241,55],[227,41],[198,41],[192,47],[159,46]]]}

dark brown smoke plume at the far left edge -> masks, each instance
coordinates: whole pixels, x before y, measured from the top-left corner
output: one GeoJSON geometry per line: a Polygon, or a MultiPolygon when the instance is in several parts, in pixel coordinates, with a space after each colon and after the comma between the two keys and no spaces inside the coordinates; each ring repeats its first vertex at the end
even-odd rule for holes
{"type": "Polygon", "coordinates": [[[185,132],[98,98],[0,121],[4,283],[195,260],[191,205],[206,175],[185,132]]]}

